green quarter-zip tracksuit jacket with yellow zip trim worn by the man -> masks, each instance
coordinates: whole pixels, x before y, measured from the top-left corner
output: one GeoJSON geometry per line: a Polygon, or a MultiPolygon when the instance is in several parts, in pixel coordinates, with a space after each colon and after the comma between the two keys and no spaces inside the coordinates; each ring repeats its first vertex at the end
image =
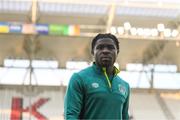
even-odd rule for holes
{"type": "Polygon", "coordinates": [[[109,83],[105,71],[95,64],[74,73],[64,100],[65,119],[128,120],[128,83],[117,74],[109,83]]]}

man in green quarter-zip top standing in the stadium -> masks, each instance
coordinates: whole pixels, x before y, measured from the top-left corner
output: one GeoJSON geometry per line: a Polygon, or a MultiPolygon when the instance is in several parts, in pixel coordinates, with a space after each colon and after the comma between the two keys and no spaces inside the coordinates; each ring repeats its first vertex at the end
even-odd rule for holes
{"type": "Polygon", "coordinates": [[[114,66],[119,53],[118,39],[98,34],[91,44],[92,66],[74,73],[67,87],[65,119],[128,120],[130,88],[114,66]]]}

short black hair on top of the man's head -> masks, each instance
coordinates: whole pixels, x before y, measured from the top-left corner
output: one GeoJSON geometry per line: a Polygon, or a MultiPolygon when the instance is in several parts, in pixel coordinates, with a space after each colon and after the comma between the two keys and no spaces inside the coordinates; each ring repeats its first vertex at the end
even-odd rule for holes
{"type": "Polygon", "coordinates": [[[114,41],[114,43],[115,43],[115,45],[117,47],[117,53],[119,53],[119,41],[118,41],[117,37],[115,35],[111,34],[111,33],[104,33],[104,34],[99,33],[98,35],[96,35],[93,38],[93,40],[91,42],[91,53],[92,54],[93,54],[93,50],[94,50],[94,46],[95,46],[96,42],[98,40],[100,40],[101,38],[111,38],[114,41]]]}

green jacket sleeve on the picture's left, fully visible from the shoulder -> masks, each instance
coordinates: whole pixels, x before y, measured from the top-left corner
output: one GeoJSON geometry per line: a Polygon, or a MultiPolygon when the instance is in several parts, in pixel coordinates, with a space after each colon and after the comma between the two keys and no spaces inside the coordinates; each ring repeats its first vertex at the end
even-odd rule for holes
{"type": "Polygon", "coordinates": [[[64,117],[66,120],[79,119],[83,104],[82,79],[74,73],[69,81],[64,99],[64,117]]]}

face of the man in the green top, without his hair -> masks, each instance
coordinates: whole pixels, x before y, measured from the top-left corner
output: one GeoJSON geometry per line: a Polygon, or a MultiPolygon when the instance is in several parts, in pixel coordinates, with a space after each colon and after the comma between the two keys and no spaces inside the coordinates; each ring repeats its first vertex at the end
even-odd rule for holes
{"type": "Polygon", "coordinates": [[[97,40],[93,52],[97,65],[101,67],[111,67],[114,65],[117,57],[117,48],[111,38],[97,40]]]}

